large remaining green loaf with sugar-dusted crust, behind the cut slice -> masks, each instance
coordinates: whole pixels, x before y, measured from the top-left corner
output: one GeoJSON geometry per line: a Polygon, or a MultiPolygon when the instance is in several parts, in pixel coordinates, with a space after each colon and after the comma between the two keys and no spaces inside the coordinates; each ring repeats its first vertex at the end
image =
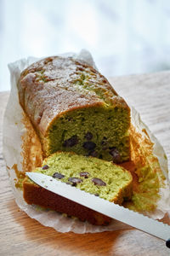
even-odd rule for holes
{"type": "Polygon", "coordinates": [[[61,150],[116,163],[130,159],[130,109],[85,62],[59,56],[37,61],[21,73],[18,90],[44,156],[61,150]]]}

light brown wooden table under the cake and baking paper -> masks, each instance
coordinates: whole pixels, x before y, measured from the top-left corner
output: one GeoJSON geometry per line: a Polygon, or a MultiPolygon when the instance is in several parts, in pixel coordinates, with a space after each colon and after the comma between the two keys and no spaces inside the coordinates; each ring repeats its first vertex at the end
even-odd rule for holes
{"type": "MultiPolygon", "coordinates": [[[[170,160],[170,72],[111,78],[116,91],[141,114],[170,160]]],[[[78,235],[59,233],[20,211],[3,161],[2,124],[8,92],[0,93],[0,255],[165,256],[165,242],[139,230],[78,235]]]]}

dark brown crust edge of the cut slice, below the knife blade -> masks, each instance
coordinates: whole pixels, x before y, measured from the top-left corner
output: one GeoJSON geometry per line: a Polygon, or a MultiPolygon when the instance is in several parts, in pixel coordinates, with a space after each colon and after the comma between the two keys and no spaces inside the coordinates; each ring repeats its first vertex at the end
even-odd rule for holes
{"type": "Polygon", "coordinates": [[[111,218],[43,189],[35,183],[30,183],[27,181],[27,177],[23,182],[23,196],[28,204],[66,213],[68,216],[75,216],[82,221],[88,220],[91,224],[106,225],[111,223],[111,218]]]}

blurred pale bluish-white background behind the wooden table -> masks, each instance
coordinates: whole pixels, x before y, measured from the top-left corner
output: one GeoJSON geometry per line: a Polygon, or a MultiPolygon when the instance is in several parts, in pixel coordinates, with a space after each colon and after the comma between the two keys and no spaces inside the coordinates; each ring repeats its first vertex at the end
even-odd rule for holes
{"type": "Polygon", "coordinates": [[[8,62],[88,49],[105,76],[170,68],[168,0],[0,0],[0,90],[8,62]]]}

